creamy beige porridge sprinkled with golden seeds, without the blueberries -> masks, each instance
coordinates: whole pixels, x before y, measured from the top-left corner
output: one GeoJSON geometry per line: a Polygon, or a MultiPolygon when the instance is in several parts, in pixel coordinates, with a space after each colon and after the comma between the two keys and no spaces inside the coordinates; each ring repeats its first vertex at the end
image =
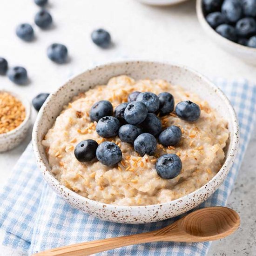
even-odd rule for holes
{"type": "Polygon", "coordinates": [[[42,141],[53,175],[67,188],[89,199],[115,205],[149,205],[169,202],[187,195],[207,183],[222,166],[223,148],[229,138],[227,122],[197,95],[184,91],[163,80],[141,80],[122,75],[74,97],[57,117],[53,128],[42,141]],[[195,122],[183,121],[175,113],[160,117],[163,128],[176,125],[182,130],[178,145],[163,147],[157,144],[152,156],[138,155],[132,144],[115,138],[102,138],[96,133],[96,122],[89,112],[96,101],[108,100],[114,109],[127,102],[134,91],[159,94],[169,92],[175,105],[193,101],[201,108],[195,122]],[[114,141],[122,151],[122,160],[106,166],[94,160],[81,163],[74,157],[74,147],[87,139],[114,141]],[[181,173],[173,179],[162,179],[155,162],[164,154],[176,154],[182,160],[181,173]]]}

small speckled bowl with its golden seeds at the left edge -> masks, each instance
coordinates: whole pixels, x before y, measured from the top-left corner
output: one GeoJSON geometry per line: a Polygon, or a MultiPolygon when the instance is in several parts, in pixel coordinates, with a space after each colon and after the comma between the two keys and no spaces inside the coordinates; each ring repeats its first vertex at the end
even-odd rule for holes
{"type": "Polygon", "coordinates": [[[18,94],[0,90],[0,152],[15,148],[30,126],[29,102],[18,94]]]}

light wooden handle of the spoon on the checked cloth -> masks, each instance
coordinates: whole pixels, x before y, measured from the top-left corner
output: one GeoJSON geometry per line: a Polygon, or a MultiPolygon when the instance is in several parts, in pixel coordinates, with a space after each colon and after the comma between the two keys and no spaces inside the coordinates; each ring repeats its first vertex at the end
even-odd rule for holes
{"type": "Polygon", "coordinates": [[[137,243],[160,241],[157,232],[151,231],[131,236],[120,236],[103,240],[67,245],[34,254],[34,256],[85,256],[137,243]]]}

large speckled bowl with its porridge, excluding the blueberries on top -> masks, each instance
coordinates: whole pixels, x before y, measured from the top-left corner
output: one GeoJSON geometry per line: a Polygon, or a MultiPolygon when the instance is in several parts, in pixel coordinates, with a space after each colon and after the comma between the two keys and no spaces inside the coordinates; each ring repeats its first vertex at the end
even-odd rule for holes
{"type": "Polygon", "coordinates": [[[180,215],[216,191],[235,159],[238,122],[227,97],[201,74],[169,63],[128,61],[95,67],[67,81],[41,108],[32,137],[40,171],[66,202],[104,220],[146,223],[180,215]],[[109,101],[115,111],[135,91],[168,92],[175,108],[191,101],[201,114],[187,121],[177,110],[155,113],[162,129],[180,128],[181,139],[175,146],[163,146],[156,136],[154,152],[138,154],[135,142],[99,135],[100,121],[90,116],[96,102],[109,101]],[[87,140],[115,144],[121,158],[112,166],[100,158],[78,161],[74,149],[87,140]],[[156,170],[158,160],[167,154],[182,162],[172,178],[163,178],[156,170]]]}

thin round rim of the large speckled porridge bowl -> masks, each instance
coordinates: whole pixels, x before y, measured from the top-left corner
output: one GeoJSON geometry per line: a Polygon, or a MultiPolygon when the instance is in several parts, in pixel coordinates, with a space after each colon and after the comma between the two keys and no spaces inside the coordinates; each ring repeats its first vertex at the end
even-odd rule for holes
{"type": "MultiPolygon", "coordinates": [[[[40,169],[40,172],[43,174],[44,178],[46,179],[47,183],[49,183],[48,181],[51,180],[51,182],[53,182],[52,184],[50,184],[51,186],[54,185],[55,188],[58,188],[57,190],[64,190],[67,191],[67,193],[69,194],[69,196],[73,196],[74,198],[77,198],[78,200],[84,201],[88,204],[92,204],[94,205],[94,207],[97,208],[102,208],[105,207],[109,208],[109,209],[120,209],[120,210],[141,210],[141,209],[154,209],[157,206],[164,206],[164,205],[168,205],[168,204],[175,204],[179,201],[186,201],[186,198],[190,198],[193,197],[193,195],[195,194],[200,194],[205,186],[210,186],[213,185],[213,183],[215,183],[216,179],[220,179],[222,180],[222,172],[225,171],[225,169],[228,168],[228,170],[230,170],[230,168],[233,165],[234,159],[236,157],[236,153],[238,150],[238,144],[239,144],[239,123],[236,117],[236,112],[233,108],[233,106],[231,105],[229,99],[227,98],[227,96],[222,92],[222,90],[220,88],[218,88],[213,82],[211,82],[208,78],[206,78],[204,75],[200,74],[199,72],[195,71],[194,69],[187,67],[185,65],[180,65],[180,64],[176,64],[174,62],[169,62],[169,61],[152,61],[152,60],[124,60],[124,61],[110,61],[107,62],[105,64],[101,64],[101,65],[97,65],[94,66],[92,68],[88,68],[86,69],[84,72],[79,73],[74,75],[73,77],[71,77],[70,79],[68,79],[68,81],[66,81],[62,86],[60,86],[59,88],[57,88],[52,94],[50,94],[47,97],[47,100],[44,102],[42,108],[40,108],[40,111],[37,115],[36,121],[34,123],[34,127],[33,127],[33,132],[32,132],[32,144],[33,144],[33,150],[34,150],[34,155],[38,164],[38,167],[40,169]],[[115,204],[109,204],[109,203],[104,203],[104,202],[99,202],[99,201],[94,201],[92,199],[89,199],[87,197],[84,197],[82,195],[79,195],[77,193],[75,193],[73,190],[68,189],[66,186],[64,186],[63,184],[61,184],[61,182],[59,182],[54,175],[52,175],[52,173],[47,169],[45,163],[43,162],[41,156],[40,156],[40,150],[38,147],[38,144],[40,143],[38,141],[38,136],[37,136],[37,131],[38,131],[38,127],[40,125],[40,119],[42,117],[43,114],[43,110],[44,108],[46,108],[47,104],[49,101],[51,101],[51,99],[55,96],[55,94],[58,94],[58,92],[60,91],[61,88],[65,87],[67,85],[68,81],[72,81],[73,79],[81,76],[84,73],[91,73],[95,70],[98,70],[98,72],[100,72],[102,69],[112,66],[112,65],[122,65],[122,64],[133,64],[133,63],[145,63],[145,64],[156,64],[156,65],[171,65],[173,67],[177,67],[177,68],[182,68],[185,69],[186,71],[189,71],[193,74],[195,74],[197,77],[199,77],[202,81],[204,81],[210,88],[212,88],[213,90],[215,90],[215,92],[218,94],[219,97],[222,98],[222,100],[225,102],[225,104],[227,105],[230,115],[232,116],[232,123],[233,125],[233,129],[234,129],[234,136],[233,138],[230,138],[230,150],[229,152],[227,152],[227,157],[225,159],[225,162],[223,162],[222,167],[220,168],[220,170],[218,171],[218,173],[211,179],[209,180],[206,184],[204,184],[202,187],[200,187],[199,189],[196,189],[195,191],[189,193],[188,195],[184,195],[180,198],[177,198],[175,200],[172,201],[168,201],[168,202],[162,202],[162,203],[158,203],[158,204],[150,204],[150,205],[140,205],[140,206],[126,206],[126,205],[115,205],[115,204]],[[235,136],[236,135],[236,136],[235,136]],[[232,144],[231,144],[232,142],[232,144]],[[230,154],[230,152],[232,151],[232,154],[230,154]]],[[[95,84],[96,86],[97,84],[95,84]]],[[[61,111],[60,111],[61,112],[61,111]]],[[[229,130],[230,132],[230,130],[229,130]]],[[[222,184],[222,182],[221,182],[222,184]]],[[[221,185],[219,184],[219,186],[221,185]]],[[[216,187],[216,189],[218,188],[218,186],[216,187]]],[[[216,190],[215,190],[216,191],[216,190]]],[[[203,193],[203,192],[202,192],[203,193]]],[[[203,193],[204,194],[204,193],[203,193]]],[[[63,197],[63,196],[62,196],[63,197]]]]}

